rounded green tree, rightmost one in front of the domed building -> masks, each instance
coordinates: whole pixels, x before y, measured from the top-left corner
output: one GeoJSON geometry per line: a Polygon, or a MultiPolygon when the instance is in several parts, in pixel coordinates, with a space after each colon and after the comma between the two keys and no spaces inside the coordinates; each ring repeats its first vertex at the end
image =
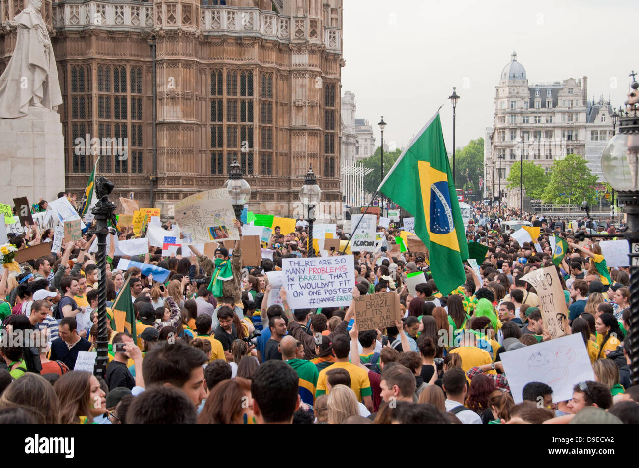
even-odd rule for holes
{"type": "Polygon", "coordinates": [[[592,175],[586,160],[580,155],[569,154],[566,159],[555,160],[550,181],[543,192],[544,203],[565,205],[581,203],[584,199],[595,202],[597,176],[592,175]]]}

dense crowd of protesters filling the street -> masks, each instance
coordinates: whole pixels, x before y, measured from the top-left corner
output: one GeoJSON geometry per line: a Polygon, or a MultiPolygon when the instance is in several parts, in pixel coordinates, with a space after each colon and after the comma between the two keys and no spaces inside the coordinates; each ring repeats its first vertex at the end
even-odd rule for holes
{"type": "MultiPolygon", "coordinates": [[[[166,257],[150,246],[131,259],[169,270],[164,283],[135,267],[116,269],[111,248],[104,378],[74,370],[79,352],[95,351],[98,335],[100,279],[86,234],[58,255],[22,263],[20,274],[3,272],[0,423],[638,423],[639,386],[631,385],[624,348],[628,269],[606,267],[597,239],[577,242],[567,220],[528,217],[541,227],[541,252],[520,246],[501,228],[517,217],[515,210],[473,207],[466,237],[488,252],[479,277],[466,266],[465,283],[452,292],[438,290],[426,251],[354,253],[354,297],[399,295],[403,320],[383,330],[359,329],[354,302],[291,310],[284,288],[282,306],[266,307],[274,293],[266,272],[281,269],[282,258],[308,255],[302,219],[291,233],[275,226],[264,246],[273,259],[261,265],[242,265],[241,246],[230,255],[219,247],[215,258],[195,248],[188,257],[181,249],[166,257]],[[569,243],[555,267],[569,309],[566,332],[583,336],[595,376],[576,384],[566,401],[541,382],[513,395],[501,362],[505,352],[550,339],[539,297],[521,278],[554,267],[543,235],[552,233],[569,243]],[[224,276],[219,269],[231,279],[212,288],[224,276]],[[412,297],[404,281],[420,271],[427,281],[412,297]],[[111,311],[125,284],[137,336],[118,331],[111,311]],[[37,336],[38,346],[5,339],[24,332],[37,336]]],[[[597,230],[588,222],[578,220],[576,228],[597,230]]],[[[390,245],[399,230],[378,227],[390,245]]],[[[616,232],[613,224],[602,230],[616,232]]],[[[348,240],[348,233],[337,235],[348,240]]],[[[135,236],[125,228],[119,237],[135,236]]],[[[19,249],[51,240],[50,230],[41,235],[35,227],[10,237],[19,249]]]]}

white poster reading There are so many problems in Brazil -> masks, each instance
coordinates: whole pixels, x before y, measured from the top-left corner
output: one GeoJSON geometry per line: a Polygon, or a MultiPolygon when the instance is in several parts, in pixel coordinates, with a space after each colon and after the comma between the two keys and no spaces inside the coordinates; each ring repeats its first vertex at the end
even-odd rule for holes
{"type": "Polygon", "coordinates": [[[348,306],[353,300],[352,255],[282,258],[282,271],[291,309],[348,306]]]}

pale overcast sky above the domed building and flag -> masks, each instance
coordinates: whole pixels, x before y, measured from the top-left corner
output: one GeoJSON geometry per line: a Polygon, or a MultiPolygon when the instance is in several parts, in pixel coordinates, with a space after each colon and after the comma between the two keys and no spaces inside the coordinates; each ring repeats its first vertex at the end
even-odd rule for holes
{"type": "Polygon", "coordinates": [[[636,0],[344,0],[342,95],[355,93],[377,145],[383,115],[384,140],[398,147],[444,104],[450,152],[452,87],[461,147],[493,124],[495,86],[515,50],[529,84],[585,75],[588,98],[610,95],[616,108],[639,72],[637,12],[636,0]]]}

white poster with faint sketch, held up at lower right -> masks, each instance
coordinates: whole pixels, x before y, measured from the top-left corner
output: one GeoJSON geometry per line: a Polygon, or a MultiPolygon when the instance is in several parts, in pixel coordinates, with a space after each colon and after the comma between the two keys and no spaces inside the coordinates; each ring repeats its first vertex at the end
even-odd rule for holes
{"type": "Polygon", "coordinates": [[[543,341],[500,356],[515,403],[523,401],[521,391],[530,382],[550,386],[553,401],[561,402],[573,398],[576,384],[595,380],[581,333],[543,341]]]}

